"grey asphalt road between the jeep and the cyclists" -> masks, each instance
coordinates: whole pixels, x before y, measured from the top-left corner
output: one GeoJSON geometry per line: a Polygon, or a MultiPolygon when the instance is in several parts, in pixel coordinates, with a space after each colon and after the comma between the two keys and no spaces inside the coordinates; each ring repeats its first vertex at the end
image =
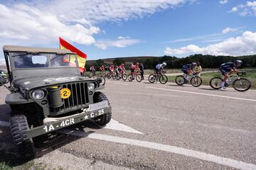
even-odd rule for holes
{"type": "MultiPolygon", "coordinates": [[[[60,130],[37,146],[36,162],[64,169],[256,169],[256,91],[122,80],[107,80],[103,91],[114,121],[60,130]]],[[[8,120],[6,94],[1,87],[1,121],[8,120]]],[[[10,140],[2,127],[2,149],[10,140]]]]}

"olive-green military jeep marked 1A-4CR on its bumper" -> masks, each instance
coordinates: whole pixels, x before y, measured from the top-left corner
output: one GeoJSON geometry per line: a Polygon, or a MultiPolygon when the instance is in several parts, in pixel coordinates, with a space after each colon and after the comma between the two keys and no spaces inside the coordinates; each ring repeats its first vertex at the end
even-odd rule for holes
{"type": "MultiPolygon", "coordinates": [[[[20,157],[35,156],[34,137],[92,120],[106,125],[111,106],[101,79],[80,76],[78,57],[69,50],[4,46],[10,94],[11,135],[20,157]]],[[[6,81],[0,82],[4,84],[6,81]]]]}

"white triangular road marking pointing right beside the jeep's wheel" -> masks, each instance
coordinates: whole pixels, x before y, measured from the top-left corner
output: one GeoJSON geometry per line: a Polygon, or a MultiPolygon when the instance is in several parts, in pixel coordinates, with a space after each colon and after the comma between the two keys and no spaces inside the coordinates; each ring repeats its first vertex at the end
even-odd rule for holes
{"type": "Polygon", "coordinates": [[[107,125],[99,126],[99,127],[105,128],[105,129],[110,129],[110,130],[119,130],[119,131],[123,131],[123,132],[132,132],[132,133],[137,133],[137,134],[143,134],[142,132],[139,132],[138,130],[134,130],[133,128],[131,128],[127,125],[124,125],[122,123],[119,123],[117,120],[113,120],[113,119],[110,120],[110,123],[107,123],[107,125]]]}

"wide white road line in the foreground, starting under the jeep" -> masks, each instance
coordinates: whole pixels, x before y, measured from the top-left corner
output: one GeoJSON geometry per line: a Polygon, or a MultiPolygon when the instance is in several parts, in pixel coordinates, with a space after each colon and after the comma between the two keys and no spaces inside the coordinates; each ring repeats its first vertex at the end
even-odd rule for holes
{"type": "Polygon", "coordinates": [[[146,148],[150,148],[150,149],[157,149],[157,150],[161,150],[164,152],[171,152],[174,154],[181,154],[186,157],[193,157],[193,158],[201,159],[201,160],[208,161],[208,162],[223,164],[225,166],[230,166],[235,169],[244,169],[244,170],[256,169],[255,164],[240,162],[240,161],[225,158],[225,157],[218,157],[214,154],[207,154],[204,152],[198,152],[195,150],[185,149],[182,147],[174,147],[171,145],[164,145],[164,144],[159,144],[159,143],[155,143],[155,142],[147,142],[147,141],[143,141],[143,140],[133,140],[133,139],[125,138],[125,137],[102,135],[102,134],[97,134],[97,133],[87,133],[87,132],[80,131],[80,130],[63,129],[63,130],[59,130],[58,132],[65,133],[68,135],[88,137],[88,138],[94,139],[94,140],[104,140],[107,142],[115,142],[115,143],[120,143],[120,144],[134,145],[134,146],[146,147],[146,148]]]}

